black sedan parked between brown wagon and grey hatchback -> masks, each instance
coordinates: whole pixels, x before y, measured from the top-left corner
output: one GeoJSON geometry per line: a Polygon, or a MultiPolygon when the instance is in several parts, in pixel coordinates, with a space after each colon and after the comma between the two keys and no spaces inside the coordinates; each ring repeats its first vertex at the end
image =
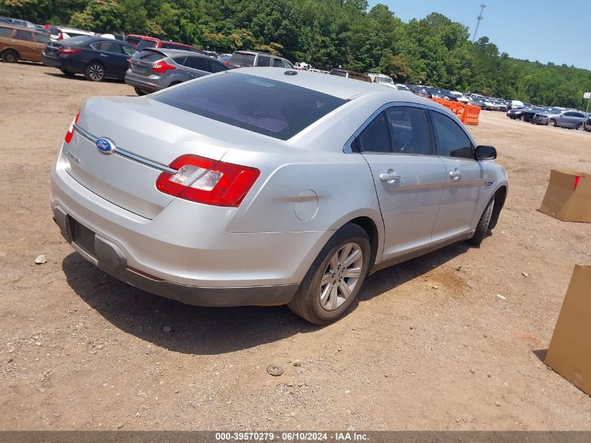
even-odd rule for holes
{"type": "Polygon", "coordinates": [[[132,45],[111,38],[76,36],[48,43],[41,58],[43,64],[60,69],[66,76],[83,73],[92,81],[123,80],[129,57],[137,52],[132,45]]]}

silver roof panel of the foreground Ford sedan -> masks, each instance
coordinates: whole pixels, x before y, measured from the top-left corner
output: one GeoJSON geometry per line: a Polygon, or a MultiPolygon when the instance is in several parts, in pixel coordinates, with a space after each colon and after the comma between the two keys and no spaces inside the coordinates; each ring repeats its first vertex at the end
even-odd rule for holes
{"type": "MultiPolygon", "coordinates": [[[[408,101],[408,92],[398,91],[393,88],[384,87],[378,83],[370,83],[362,80],[355,80],[352,78],[345,78],[339,76],[318,76],[316,73],[309,71],[296,71],[295,69],[283,68],[240,68],[225,71],[225,73],[245,73],[253,76],[260,76],[277,80],[284,83],[290,83],[307,89],[323,92],[325,94],[339,97],[340,99],[352,99],[360,94],[367,92],[380,92],[382,94],[399,94],[401,101],[408,101]],[[295,75],[285,75],[285,72],[296,72],[295,75]]],[[[395,101],[393,99],[392,101],[395,101]]],[[[416,102],[421,104],[434,104],[433,101],[416,97],[416,102]]]]}

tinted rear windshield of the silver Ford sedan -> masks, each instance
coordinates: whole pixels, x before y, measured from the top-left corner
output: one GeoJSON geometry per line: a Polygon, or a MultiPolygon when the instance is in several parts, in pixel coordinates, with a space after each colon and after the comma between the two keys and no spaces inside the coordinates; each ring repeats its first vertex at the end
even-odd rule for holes
{"type": "Polygon", "coordinates": [[[164,104],[280,140],[308,127],[346,100],[243,73],[206,77],[153,97],[164,104]]]}

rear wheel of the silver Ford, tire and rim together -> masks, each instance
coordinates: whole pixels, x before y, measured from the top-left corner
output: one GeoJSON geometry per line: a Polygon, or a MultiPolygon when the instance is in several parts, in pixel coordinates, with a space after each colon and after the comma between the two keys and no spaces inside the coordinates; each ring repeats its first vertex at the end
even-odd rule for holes
{"type": "Polygon", "coordinates": [[[316,325],[336,321],[359,293],[369,269],[370,251],[365,230],[347,223],[322,248],[287,306],[316,325]]]}

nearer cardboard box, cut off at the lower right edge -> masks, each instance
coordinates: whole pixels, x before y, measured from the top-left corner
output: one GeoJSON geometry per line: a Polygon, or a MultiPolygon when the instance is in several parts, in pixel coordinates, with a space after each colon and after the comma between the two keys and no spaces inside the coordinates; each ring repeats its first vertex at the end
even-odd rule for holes
{"type": "Polygon", "coordinates": [[[544,360],[591,395],[591,265],[576,265],[544,360]]]}

